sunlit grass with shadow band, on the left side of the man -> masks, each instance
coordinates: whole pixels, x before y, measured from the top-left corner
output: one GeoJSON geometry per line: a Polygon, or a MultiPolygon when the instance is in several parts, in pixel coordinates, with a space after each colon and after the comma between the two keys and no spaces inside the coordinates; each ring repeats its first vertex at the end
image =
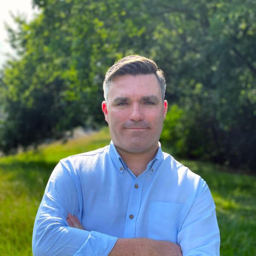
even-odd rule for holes
{"type": "Polygon", "coordinates": [[[98,133],[0,158],[0,256],[32,255],[35,215],[54,166],[61,158],[103,147],[107,129],[98,133]]]}

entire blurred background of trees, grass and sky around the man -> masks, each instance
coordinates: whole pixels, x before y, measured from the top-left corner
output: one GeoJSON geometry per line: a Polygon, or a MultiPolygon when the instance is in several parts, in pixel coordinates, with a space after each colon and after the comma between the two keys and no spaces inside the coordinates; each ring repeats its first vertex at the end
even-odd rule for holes
{"type": "Polygon", "coordinates": [[[58,160],[109,143],[102,82],[133,54],[165,74],[160,141],[207,181],[221,255],[256,253],[255,10],[255,0],[2,1],[0,254],[32,255],[58,160]]]}

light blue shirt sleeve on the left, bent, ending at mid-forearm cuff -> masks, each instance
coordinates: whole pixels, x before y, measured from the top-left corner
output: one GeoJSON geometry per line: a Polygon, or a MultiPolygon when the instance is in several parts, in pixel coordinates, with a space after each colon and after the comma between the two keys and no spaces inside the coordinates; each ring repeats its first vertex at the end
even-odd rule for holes
{"type": "Polygon", "coordinates": [[[110,253],[116,237],[68,226],[68,213],[76,215],[81,221],[81,207],[79,179],[61,161],[49,178],[35,218],[32,238],[34,256],[105,256],[110,253]]]}

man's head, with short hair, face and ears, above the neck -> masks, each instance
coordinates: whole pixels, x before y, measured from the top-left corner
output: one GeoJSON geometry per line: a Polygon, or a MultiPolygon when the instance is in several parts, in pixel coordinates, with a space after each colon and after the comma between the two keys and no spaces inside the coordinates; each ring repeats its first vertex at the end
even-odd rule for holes
{"type": "Polygon", "coordinates": [[[116,62],[106,74],[104,90],[102,110],[119,152],[155,152],[167,101],[163,73],[154,61],[128,56],[116,62]]]}

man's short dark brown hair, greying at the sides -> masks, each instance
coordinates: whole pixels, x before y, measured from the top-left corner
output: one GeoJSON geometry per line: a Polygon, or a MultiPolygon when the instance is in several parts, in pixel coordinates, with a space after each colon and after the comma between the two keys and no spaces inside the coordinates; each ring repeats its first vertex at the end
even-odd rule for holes
{"type": "Polygon", "coordinates": [[[111,80],[116,76],[124,75],[148,75],[154,74],[161,89],[162,99],[164,99],[166,91],[166,83],[163,76],[163,71],[157,68],[157,64],[149,58],[130,55],[115,62],[107,71],[103,82],[103,91],[105,101],[108,102],[108,91],[111,80]]]}

